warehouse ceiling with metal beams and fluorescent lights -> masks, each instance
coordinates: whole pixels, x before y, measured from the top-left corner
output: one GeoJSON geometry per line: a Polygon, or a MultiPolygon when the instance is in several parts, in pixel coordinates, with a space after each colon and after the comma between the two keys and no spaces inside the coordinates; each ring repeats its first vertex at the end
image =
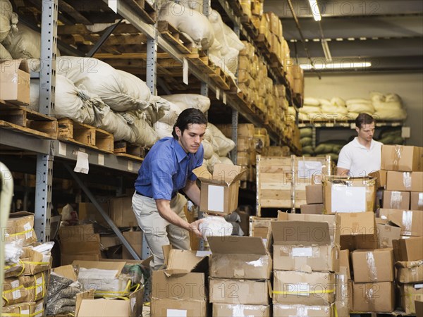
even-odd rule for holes
{"type": "Polygon", "coordinates": [[[331,65],[319,71],[350,71],[347,67],[333,68],[333,64],[350,63],[356,63],[355,70],[366,71],[423,69],[422,0],[317,0],[317,6],[319,22],[314,20],[307,0],[264,1],[264,11],[273,11],[281,18],[291,57],[297,57],[300,64],[309,64],[305,46],[317,67],[331,65]],[[322,38],[327,39],[330,63],[325,58],[322,38]],[[371,66],[364,68],[358,63],[371,66]]]}

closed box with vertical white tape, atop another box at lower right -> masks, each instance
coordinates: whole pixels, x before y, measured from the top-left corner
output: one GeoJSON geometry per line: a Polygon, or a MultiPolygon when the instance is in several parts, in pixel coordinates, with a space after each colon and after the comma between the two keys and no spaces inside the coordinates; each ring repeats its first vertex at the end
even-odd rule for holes
{"type": "Polygon", "coordinates": [[[354,282],[393,281],[393,249],[355,250],[351,260],[354,282]]]}

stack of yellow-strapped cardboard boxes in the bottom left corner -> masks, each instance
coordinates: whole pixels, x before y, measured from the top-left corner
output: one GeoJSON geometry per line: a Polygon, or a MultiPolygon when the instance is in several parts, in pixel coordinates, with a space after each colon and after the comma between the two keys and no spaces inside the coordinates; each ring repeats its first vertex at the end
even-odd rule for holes
{"type": "Polygon", "coordinates": [[[11,213],[4,226],[5,271],[2,282],[1,314],[27,311],[31,316],[44,316],[51,249],[54,242],[37,243],[34,214],[11,213]]]}

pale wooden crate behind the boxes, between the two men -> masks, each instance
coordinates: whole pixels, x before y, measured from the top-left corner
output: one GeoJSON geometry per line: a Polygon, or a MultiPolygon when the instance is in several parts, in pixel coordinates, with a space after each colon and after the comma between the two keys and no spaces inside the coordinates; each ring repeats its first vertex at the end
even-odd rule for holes
{"type": "Polygon", "coordinates": [[[305,186],[314,175],[331,175],[331,159],[326,157],[257,156],[257,216],[263,208],[300,208],[305,202],[305,186]],[[307,165],[319,163],[321,172],[311,173],[307,165]],[[304,170],[298,168],[306,164],[304,170]]]}

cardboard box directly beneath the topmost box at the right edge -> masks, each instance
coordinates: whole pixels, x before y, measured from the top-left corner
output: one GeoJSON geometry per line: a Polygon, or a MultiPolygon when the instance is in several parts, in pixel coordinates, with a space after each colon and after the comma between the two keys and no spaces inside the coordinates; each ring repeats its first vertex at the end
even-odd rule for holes
{"type": "Polygon", "coordinates": [[[386,189],[400,192],[423,192],[423,172],[386,173],[386,189]]]}

